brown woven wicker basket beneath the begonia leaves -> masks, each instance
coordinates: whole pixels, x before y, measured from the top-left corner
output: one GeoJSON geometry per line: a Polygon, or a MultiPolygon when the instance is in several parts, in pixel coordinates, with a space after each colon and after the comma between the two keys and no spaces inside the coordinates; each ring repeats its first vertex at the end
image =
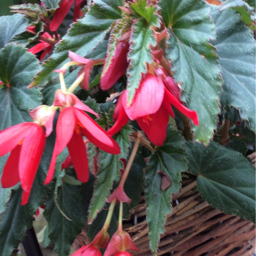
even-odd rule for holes
{"type": "MultiPolygon", "coordinates": [[[[183,182],[180,193],[172,196],[172,214],[167,216],[157,255],[251,256],[255,247],[255,225],[212,208],[194,189],[195,186],[196,181],[183,182]]],[[[132,255],[152,255],[145,216],[146,204],[142,199],[131,211],[131,219],[142,222],[133,225],[124,221],[124,230],[140,250],[131,252],[132,255]]],[[[74,245],[83,246],[88,242],[83,231],[74,245]]]]}

